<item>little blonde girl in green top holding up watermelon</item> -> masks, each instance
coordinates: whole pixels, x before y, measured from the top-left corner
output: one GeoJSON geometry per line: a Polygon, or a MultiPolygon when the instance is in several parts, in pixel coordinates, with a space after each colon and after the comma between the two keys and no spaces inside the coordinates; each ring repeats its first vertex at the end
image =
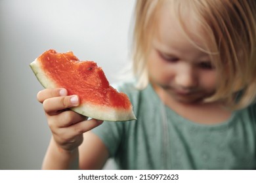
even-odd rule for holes
{"type": "Polygon", "coordinates": [[[256,169],[256,1],[140,0],[135,12],[135,80],[117,88],[138,120],[87,120],[67,110],[79,97],[42,90],[43,169],[256,169]]]}

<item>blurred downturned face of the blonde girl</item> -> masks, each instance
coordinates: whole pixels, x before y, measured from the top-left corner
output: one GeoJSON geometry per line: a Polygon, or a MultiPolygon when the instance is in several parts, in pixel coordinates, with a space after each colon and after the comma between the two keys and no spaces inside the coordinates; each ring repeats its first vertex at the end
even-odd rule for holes
{"type": "MultiPolygon", "coordinates": [[[[202,34],[189,19],[186,28],[202,34]]],[[[200,102],[215,92],[216,71],[209,55],[188,41],[177,21],[167,11],[160,16],[148,59],[150,82],[176,101],[200,102]]],[[[203,47],[195,36],[192,39],[203,47]]]]}

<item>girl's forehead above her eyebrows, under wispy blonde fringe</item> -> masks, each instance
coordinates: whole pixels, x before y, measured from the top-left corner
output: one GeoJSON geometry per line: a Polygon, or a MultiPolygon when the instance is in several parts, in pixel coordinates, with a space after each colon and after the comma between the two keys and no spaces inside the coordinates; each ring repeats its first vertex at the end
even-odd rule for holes
{"type": "Polygon", "coordinates": [[[179,1],[165,1],[159,8],[157,20],[154,39],[171,44],[172,47],[189,43],[200,50],[206,50],[206,34],[191,6],[179,1]]]}

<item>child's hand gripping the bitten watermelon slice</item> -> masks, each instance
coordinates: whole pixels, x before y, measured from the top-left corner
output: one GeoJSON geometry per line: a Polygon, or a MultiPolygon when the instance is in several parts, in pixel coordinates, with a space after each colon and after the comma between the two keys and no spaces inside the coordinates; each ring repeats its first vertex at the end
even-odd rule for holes
{"type": "Polygon", "coordinates": [[[77,95],[67,95],[66,89],[45,89],[37,93],[37,100],[43,103],[53,139],[62,150],[75,150],[83,142],[83,133],[102,124],[99,120],[87,120],[70,107],[79,105],[77,95]]]}

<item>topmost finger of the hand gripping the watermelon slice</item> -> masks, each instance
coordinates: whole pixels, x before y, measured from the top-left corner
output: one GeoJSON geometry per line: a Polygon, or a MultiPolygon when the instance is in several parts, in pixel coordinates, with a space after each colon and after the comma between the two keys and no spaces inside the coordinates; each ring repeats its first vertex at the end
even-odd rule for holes
{"type": "Polygon", "coordinates": [[[66,96],[66,95],[68,95],[68,91],[65,88],[47,88],[37,93],[37,100],[40,103],[43,103],[45,99],[49,99],[52,97],[66,96]]]}

